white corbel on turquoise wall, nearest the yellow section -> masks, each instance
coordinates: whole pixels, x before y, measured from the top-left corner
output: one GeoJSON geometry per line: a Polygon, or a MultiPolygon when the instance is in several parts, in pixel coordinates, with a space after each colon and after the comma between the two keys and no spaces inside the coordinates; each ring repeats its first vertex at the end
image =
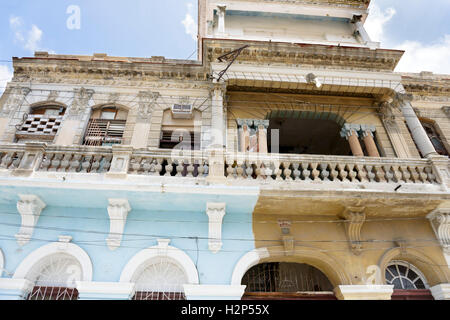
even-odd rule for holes
{"type": "Polygon", "coordinates": [[[208,202],[206,214],[209,218],[209,250],[217,253],[222,248],[222,220],[225,215],[226,204],[222,202],[208,202]]]}

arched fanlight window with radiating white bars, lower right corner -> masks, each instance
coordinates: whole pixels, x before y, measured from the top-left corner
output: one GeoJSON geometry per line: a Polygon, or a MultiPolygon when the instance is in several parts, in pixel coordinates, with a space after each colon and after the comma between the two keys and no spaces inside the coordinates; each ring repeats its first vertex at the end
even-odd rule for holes
{"type": "Polygon", "coordinates": [[[385,270],[386,284],[394,286],[394,300],[433,299],[423,274],[405,261],[392,261],[385,270]]]}

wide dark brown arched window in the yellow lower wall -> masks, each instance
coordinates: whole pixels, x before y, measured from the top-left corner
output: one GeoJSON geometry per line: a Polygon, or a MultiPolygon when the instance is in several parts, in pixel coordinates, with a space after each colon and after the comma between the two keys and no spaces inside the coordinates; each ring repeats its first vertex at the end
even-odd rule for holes
{"type": "Polygon", "coordinates": [[[244,299],[335,299],[326,275],[307,264],[258,264],[245,273],[242,284],[244,299]]]}

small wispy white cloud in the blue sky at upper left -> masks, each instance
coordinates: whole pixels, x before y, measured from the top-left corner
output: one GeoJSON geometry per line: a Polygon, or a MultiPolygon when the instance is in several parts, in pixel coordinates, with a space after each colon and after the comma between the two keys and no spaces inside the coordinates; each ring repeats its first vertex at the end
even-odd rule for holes
{"type": "Polygon", "coordinates": [[[40,45],[43,32],[38,26],[32,25],[31,29],[26,32],[24,21],[21,17],[11,16],[9,26],[14,32],[14,42],[20,44],[25,50],[31,51],[50,51],[43,49],[40,45]]]}

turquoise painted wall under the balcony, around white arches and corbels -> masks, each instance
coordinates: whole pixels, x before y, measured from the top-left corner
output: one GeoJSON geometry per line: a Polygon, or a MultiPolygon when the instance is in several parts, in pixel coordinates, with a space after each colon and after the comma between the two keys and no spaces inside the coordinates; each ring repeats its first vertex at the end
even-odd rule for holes
{"type": "MultiPolygon", "coordinates": [[[[171,239],[171,246],[183,250],[197,265],[200,284],[229,284],[238,260],[254,249],[252,212],[256,195],[205,195],[131,191],[89,191],[29,187],[0,187],[0,248],[4,268],[13,273],[32,251],[70,235],[72,243],[84,249],[93,264],[93,281],[118,281],[122,269],[140,250],[171,239]],[[47,207],[42,211],[32,240],[21,247],[14,235],[21,217],[16,209],[18,194],[35,194],[47,207]],[[108,198],[128,199],[128,214],[121,246],[111,251],[108,198]],[[208,249],[207,202],[225,202],[222,250],[208,249]],[[198,240],[196,240],[198,238],[198,240]]],[[[3,277],[9,277],[3,273],[3,277]]]]}

